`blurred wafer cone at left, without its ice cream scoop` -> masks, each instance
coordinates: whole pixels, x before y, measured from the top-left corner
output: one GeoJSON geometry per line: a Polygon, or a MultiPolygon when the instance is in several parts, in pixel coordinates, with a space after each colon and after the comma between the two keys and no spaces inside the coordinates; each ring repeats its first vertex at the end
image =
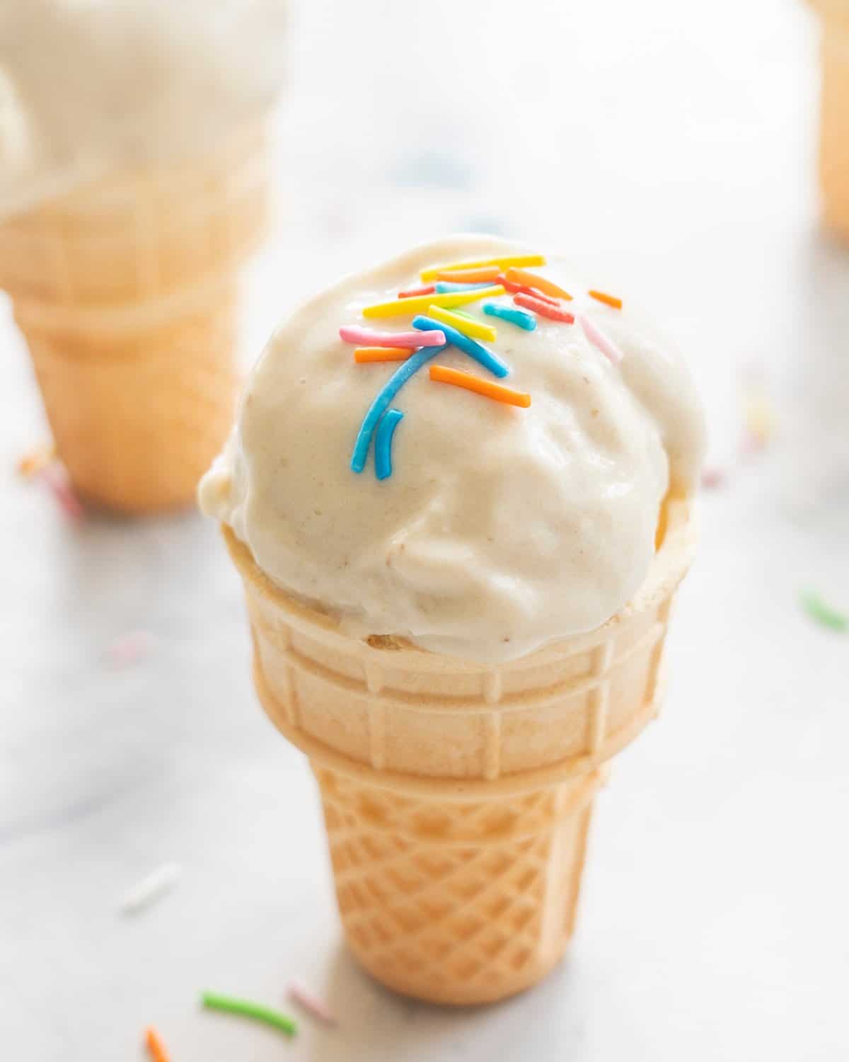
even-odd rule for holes
{"type": "Polygon", "coordinates": [[[232,423],[237,271],[268,211],[262,126],[0,224],[0,287],[59,457],[128,512],[193,499],[232,423]]]}

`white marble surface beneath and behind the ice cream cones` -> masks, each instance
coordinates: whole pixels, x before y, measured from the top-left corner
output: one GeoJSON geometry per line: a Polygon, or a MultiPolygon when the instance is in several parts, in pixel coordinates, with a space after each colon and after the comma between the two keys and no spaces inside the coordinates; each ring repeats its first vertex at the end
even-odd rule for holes
{"type": "Polygon", "coordinates": [[[814,220],[811,19],[776,0],[313,0],[294,29],[246,352],[314,284],[475,225],[654,305],[729,473],[704,498],[668,706],[599,801],[562,967],[468,1013],[389,996],[340,946],[313,784],[256,704],[214,529],[73,528],[15,478],[46,429],[3,310],[0,1055],[142,1059],[153,1022],[174,1062],[846,1057],[849,639],[797,605],[811,585],[849,606],[849,258],[814,220]],[[751,361],[783,439],[739,462],[751,361]],[[151,651],[110,667],[139,628],[151,651]],[[119,917],[167,860],[178,888],[119,917]],[[307,1020],[289,1043],[197,1007],[204,988],[282,1004],[292,977],[337,1030],[307,1020]]]}

